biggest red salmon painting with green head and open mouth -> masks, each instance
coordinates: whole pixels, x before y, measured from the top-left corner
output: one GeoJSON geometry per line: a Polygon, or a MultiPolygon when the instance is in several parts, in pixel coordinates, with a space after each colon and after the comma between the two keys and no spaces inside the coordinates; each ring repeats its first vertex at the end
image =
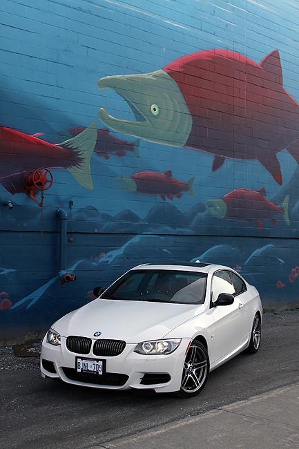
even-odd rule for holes
{"type": "Polygon", "coordinates": [[[226,158],[258,160],[282,184],[277,153],[299,163],[299,105],[284,90],[277,50],[260,64],[229,50],[204,50],[142,75],[99,79],[126,100],[136,121],[99,109],[115,131],[150,142],[186,146],[226,158]]]}

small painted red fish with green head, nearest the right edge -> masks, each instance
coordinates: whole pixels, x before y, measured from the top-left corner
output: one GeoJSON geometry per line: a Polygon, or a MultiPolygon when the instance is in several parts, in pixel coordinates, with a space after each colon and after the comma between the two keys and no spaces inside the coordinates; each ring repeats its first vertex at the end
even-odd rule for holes
{"type": "Polygon", "coordinates": [[[229,220],[254,221],[260,232],[264,220],[272,220],[273,226],[278,224],[276,216],[282,214],[289,226],[289,195],[282,206],[267,200],[264,188],[258,191],[250,189],[235,189],[226,193],[221,200],[208,200],[206,207],[210,215],[229,220]]]}

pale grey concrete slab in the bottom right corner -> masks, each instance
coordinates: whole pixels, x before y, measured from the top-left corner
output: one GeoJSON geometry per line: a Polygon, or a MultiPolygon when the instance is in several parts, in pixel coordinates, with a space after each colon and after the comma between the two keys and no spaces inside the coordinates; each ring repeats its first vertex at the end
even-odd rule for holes
{"type": "Polygon", "coordinates": [[[299,448],[299,383],[91,448],[299,448]]]}

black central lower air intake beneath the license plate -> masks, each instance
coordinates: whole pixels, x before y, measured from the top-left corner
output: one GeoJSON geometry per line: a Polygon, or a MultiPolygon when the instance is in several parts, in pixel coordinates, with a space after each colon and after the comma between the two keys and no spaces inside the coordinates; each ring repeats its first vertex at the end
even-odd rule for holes
{"type": "Polygon", "coordinates": [[[128,380],[126,374],[107,372],[104,376],[88,372],[77,372],[74,368],[63,367],[64,374],[70,381],[94,383],[95,385],[111,385],[122,387],[128,380]]]}

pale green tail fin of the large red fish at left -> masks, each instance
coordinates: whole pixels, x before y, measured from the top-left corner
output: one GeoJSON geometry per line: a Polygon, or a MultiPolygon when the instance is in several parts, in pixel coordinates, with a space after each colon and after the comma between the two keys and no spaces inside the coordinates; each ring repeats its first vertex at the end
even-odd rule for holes
{"type": "Polygon", "coordinates": [[[81,184],[81,186],[86,187],[86,189],[90,190],[93,190],[93,180],[91,178],[90,172],[90,159],[93,155],[93,150],[95,149],[96,142],[97,124],[96,122],[93,122],[80,134],[60,144],[61,146],[77,151],[80,157],[83,159],[83,162],[81,162],[80,166],[73,166],[67,170],[71,175],[73,175],[75,180],[79,182],[79,184],[81,184]]]}

